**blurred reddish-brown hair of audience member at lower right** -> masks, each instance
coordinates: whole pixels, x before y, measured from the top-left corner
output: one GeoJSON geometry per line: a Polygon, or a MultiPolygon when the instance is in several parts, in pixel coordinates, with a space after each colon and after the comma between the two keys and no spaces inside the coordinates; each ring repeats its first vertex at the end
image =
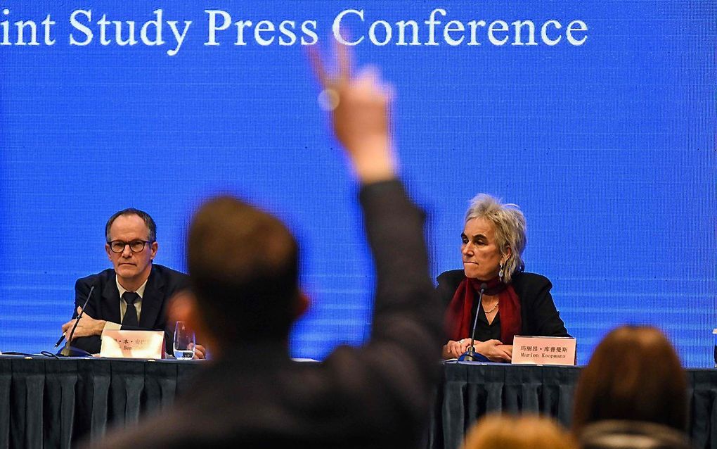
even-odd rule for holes
{"type": "Polygon", "coordinates": [[[573,430],[592,422],[687,425],[687,379],[680,359],[660,330],[622,326],[595,348],[575,391],[573,430]]]}

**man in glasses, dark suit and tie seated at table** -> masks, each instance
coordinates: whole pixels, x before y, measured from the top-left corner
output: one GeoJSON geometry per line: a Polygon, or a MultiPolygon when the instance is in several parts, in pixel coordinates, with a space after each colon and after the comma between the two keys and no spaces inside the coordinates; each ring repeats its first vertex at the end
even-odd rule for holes
{"type": "MultiPolygon", "coordinates": [[[[74,318],[94,286],[72,346],[98,353],[105,329],[163,330],[165,350],[171,353],[174,325],[167,322],[168,300],[188,286],[189,278],[152,263],[158,249],[156,224],[143,210],[129,208],[115,213],[107,221],[105,237],[105,251],[114,268],[77,279],[77,308],[73,319],[62,325],[62,333],[67,335],[75,325],[74,318]]],[[[203,357],[204,348],[198,346],[196,354],[203,357]]]]}

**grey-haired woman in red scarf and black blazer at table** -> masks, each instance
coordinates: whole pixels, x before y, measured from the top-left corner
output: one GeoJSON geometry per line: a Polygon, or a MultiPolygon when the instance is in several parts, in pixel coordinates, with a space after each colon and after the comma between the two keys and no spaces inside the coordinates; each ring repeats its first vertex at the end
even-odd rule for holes
{"type": "Polygon", "coordinates": [[[438,277],[450,339],[443,358],[467,351],[476,313],[475,351],[490,361],[511,361],[515,335],[570,336],[550,295],[551,282],[523,272],[526,218],[517,205],[476,196],[460,238],[463,269],[438,277]],[[481,286],[485,289],[478,301],[481,286]]]}

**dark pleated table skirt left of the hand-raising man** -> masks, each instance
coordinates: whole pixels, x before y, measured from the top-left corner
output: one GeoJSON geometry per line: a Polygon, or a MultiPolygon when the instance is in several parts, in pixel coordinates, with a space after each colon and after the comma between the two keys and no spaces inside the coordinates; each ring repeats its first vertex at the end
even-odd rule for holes
{"type": "Polygon", "coordinates": [[[0,448],[70,448],[168,406],[203,362],[0,356],[0,448]]]}

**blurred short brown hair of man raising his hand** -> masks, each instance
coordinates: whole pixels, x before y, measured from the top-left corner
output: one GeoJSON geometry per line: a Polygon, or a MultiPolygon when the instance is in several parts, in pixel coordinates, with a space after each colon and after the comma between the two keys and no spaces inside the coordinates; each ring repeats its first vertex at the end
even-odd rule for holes
{"type": "Polygon", "coordinates": [[[298,245],[281,221],[237,198],[214,198],[192,220],[187,253],[191,287],[220,345],[287,340],[298,245]]]}

